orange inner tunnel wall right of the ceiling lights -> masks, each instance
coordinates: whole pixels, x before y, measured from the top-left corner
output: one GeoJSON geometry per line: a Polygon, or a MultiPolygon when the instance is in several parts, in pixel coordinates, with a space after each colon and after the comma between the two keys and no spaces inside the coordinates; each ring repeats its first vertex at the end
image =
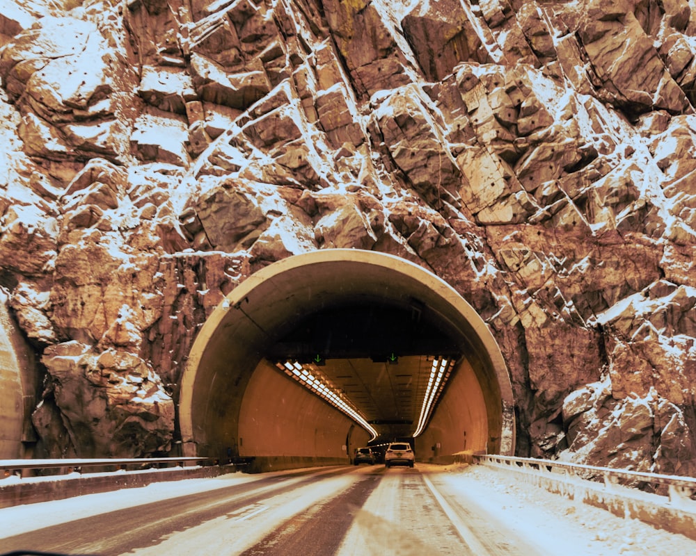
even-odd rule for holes
{"type": "Polygon", "coordinates": [[[456,452],[486,452],[489,429],[485,407],[481,386],[465,359],[450,378],[428,427],[416,438],[416,459],[450,464],[456,452]]]}

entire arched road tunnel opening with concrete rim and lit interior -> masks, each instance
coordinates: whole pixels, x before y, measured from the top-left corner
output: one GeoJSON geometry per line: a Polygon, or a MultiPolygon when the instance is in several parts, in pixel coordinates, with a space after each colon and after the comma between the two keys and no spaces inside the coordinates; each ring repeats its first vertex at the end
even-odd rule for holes
{"type": "Polygon", "coordinates": [[[346,464],[413,443],[417,461],[514,453],[514,400],[487,325],[425,268],[319,250],[242,281],[196,336],[182,375],[184,455],[258,471],[346,464]]]}

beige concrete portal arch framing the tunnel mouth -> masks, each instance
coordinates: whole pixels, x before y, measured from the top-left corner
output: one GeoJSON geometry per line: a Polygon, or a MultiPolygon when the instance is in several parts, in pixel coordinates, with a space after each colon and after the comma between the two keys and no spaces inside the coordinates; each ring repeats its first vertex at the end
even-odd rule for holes
{"type": "Polygon", "coordinates": [[[456,332],[483,393],[488,449],[514,453],[514,400],[503,355],[485,322],[445,281],[397,256],[362,250],[308,252],[272,263],[239,284],[200,329],[179,404],[184,455],[223,457],[239,436],[242,398],[264,349],[303,316],[337,301],[414,300],[456,332]]]}

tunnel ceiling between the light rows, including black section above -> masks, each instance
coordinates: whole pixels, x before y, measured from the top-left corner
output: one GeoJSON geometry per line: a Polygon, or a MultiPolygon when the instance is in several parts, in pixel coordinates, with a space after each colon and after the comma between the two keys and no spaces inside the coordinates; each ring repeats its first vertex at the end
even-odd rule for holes
{"type": "Polygon", "coordinates": [[[280,366],[299,361],[391,436],[413,434],[433,358],[461,354],[453,334],[418,300],[344,304],[288,328],[267,359],[280,366]]]}

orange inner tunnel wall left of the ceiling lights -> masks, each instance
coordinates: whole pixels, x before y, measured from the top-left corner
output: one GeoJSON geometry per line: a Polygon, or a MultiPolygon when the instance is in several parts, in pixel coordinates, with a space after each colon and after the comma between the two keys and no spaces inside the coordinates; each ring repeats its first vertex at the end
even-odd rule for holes
{"type": "MultiPolygon", "coordinates": [[[[262,359],[246,386],[239,412],[239,455],[255,457],[255,471],[349,463],[352,421],[262,359]]],[[[354,428],[351,445],[369,435],[354,428]]]]}

